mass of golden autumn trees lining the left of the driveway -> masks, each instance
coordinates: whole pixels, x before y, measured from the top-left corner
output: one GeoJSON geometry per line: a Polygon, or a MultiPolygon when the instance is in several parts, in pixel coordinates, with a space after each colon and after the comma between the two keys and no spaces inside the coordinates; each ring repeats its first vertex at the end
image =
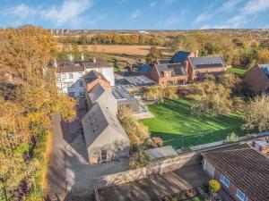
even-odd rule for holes
{"type": "Polygon", "coordinates": [[[39,191],[34,200],[41,200],[38,175],[45,166],[45,150],[37,150],[46,149],[50,114],[73,117],[74,100],[57,94],[55,72],[48,67],[57,44],[47,30],[30,26],[2,29],[0,40],[2,185],[13,199],[30,199],[39,191]]]}

